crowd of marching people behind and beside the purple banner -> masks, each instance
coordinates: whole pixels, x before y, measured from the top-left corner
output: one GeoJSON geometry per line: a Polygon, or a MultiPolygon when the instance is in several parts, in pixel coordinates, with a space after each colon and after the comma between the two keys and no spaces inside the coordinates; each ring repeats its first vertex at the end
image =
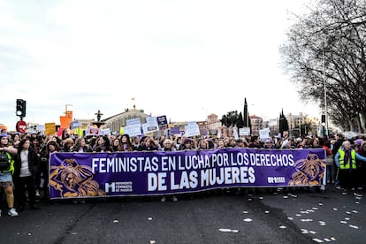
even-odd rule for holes
{"type": "MultiPolygon", "coordinates": [[[[326,152],[327,183],[334,183],[344,191],[366,186],[366,138],[346,139],[342,134],[329,137],[267,138],[257,136],[234,139],[201,136],[136,136],[128,134],[78,137],[64,130],[61,136],[41,133],[0,133],[0,154],[8,157],[10,167],[0,170],[0,191],[6,202],[8,215],[16,217],[26,208],[38,210],[37,199],[49,198],[49,159],[57,152],[120,152],[120,151],[177,151],[191,149],[311,149],[326,152]],[[363,164],[362,164],[363,163],[363,164]]],[[[165,202],[165,196],[161,199],[165,202]]],[[[178,201],[172,195],[172,201],[178,201]]],[[[0,216],[2,206],[0,205],[0,216]]]]}

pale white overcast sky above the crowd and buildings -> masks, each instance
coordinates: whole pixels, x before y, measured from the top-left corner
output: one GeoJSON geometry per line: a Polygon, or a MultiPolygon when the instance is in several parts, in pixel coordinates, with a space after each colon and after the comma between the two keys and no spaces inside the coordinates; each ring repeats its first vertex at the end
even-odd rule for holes
{"type": "Polygon", "coordinates": [[[281,68],[301,0],[0,0],[0,123],[102,118],[126,108],[172,121],[242,111],[319,116],[281,68]],[[133,101],[132,98],[135,98],[133,101]]]}

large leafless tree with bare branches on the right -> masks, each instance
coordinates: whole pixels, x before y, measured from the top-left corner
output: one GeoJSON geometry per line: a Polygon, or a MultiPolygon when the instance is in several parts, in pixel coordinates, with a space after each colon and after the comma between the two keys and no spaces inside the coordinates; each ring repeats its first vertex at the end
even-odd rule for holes
{"type": "Polygon", "coordinates": [[[317,0],[295,16],[280,47],[301,99],[318,103],[336,126],[365,130],[366,2],[317,0]],[[326,92],[324,92],[326,91],[326,92]],[[326,96],[325,96],[326,94],[326,96]],[[325,99],[326,97],[326,99],[325,99]]]}

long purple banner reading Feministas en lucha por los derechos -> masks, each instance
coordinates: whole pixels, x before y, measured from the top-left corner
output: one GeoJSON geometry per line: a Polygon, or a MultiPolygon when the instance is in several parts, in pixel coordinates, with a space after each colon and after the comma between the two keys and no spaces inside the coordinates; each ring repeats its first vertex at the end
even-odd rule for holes
{"type": "Polygon", "coordinates": [[[156,195],[325,184],[324,149],[56,153],[50,198],[156,195]]]}

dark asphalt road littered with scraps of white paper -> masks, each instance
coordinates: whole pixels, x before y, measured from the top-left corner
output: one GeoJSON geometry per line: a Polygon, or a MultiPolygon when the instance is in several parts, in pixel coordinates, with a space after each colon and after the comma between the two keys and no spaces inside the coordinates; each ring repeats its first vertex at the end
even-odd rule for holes
{"type": "Polygon", "coordinates": [[[365,243],[366,201],[330,186],[255,194],[40,202],[0,217],[1,243],[365,243]]]}

